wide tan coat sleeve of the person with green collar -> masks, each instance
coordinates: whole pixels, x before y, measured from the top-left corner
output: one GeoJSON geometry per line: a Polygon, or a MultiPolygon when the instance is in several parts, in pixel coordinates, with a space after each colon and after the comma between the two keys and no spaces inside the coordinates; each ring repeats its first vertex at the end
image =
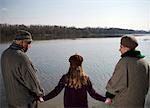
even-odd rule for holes
{"type": "Polygon", "coordinates": [[[127,64],[124,59],[120,59],[117,63],[114,73],[107,83],[107,92],[117,95],[128,86],[127,64]]]}

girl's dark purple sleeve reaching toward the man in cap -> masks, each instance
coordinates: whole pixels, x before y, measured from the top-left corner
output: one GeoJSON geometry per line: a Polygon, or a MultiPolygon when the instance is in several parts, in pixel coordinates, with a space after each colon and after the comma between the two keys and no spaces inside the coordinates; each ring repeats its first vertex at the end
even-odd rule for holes
{"type": "Polygon", "coordinates": [[[45,95],[43,97],[44,101],[47,101],[47,100],[52,99],[55,96],[57,96],[64,87],[65,87],[65,85],[64,85],[64,81],[63,81],[63,77],[62,77],[60,79],[58,85],[50,93],[48,93],[47,95],[45,95]]]}

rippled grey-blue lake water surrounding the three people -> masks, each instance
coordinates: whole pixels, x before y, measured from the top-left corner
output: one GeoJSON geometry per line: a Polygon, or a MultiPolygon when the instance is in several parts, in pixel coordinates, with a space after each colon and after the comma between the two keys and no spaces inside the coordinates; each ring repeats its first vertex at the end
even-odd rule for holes
{"type": "MultiPolygon", "coordinates": [[[[144,41],[141,38],[138,40],[140,42],[138,49],[150,61],[150,41],[144,41]]],[[[39,70],[38,76],[46,93],[51,91],[61,76],[68,71],[68,58],[79,53],[84,57],[83,68],[90,76],[94,88],[98,93],[104,95],[106,83],[120,58],[119,41],[120,38],[35,41],[27,54],[39,70]]],[[[1,44],[0,54],[8,46],[9,44],[1,44]]],[[[0,79],[0,105],[4,108],[6,102],[4,102],[5,94],[1,72],[0,79]]],[[[147,105],[148,103],[150,103],[150,99],[147,100],[147,105]]],[[[54,99],[40,104],[41,108],[48,106],[62,108],[63,91],[54,99]]],[[[99,108],[100,106],[104,107],[104,104],[89,96],[89,108],[99,108]]]]}

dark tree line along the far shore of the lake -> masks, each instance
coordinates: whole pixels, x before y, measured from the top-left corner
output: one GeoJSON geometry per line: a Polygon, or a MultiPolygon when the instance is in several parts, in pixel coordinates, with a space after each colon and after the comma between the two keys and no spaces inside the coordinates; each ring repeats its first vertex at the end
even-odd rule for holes
{"type": "Polygon", "coordinates": [[[15,37],[17,30],[29,31],[34,40],[48,39],[74,39],[74,38],[100,38],[116,37],[124,34],[146,34],[150,33],[143,30],[130,30],[120,28],[76,28],[66,26],[50,25],[11,25],[0,24],[0,42],[11,41],[15,37]]]}

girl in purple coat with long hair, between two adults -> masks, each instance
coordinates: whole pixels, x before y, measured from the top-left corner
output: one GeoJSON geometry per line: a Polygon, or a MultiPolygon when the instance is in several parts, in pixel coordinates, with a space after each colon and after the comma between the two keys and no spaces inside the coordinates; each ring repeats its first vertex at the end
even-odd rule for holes
{"type": "Polygon", "coordinates": [[[68,73],[62,76],[55,89],[43,97],[44,101],[54,98],[65,88],[64,108],[88,108],[87,92],[94,99],[110,104],[109,98],[106,99],[93,89],[89,77],[82,68],[83,57],[72,55],[69,62],[68,73]]]}

